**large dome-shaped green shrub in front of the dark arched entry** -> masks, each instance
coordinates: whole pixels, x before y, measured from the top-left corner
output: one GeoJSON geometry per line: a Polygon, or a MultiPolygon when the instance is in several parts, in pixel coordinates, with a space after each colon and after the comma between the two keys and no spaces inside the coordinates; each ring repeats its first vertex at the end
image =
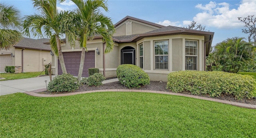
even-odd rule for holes
{"type": "Polygon", "coordinates": [[[128,88],[139,88],[150,83],[150,78],[140,67],[132,64],[122,64],[116,69],[116,75],[121,84],[128,88]]]}

